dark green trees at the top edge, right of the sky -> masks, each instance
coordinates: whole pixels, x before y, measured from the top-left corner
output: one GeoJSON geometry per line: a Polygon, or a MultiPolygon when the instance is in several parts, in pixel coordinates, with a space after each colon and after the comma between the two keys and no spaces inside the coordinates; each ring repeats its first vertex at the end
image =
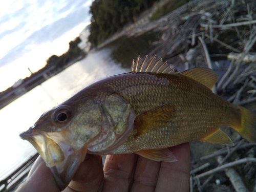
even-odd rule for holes
{"type": "MultiPolygon", "coordinates": [[[[90,7],[91,28],[89,41],[97,46],[127,23],[136,22],[137,16],[153,6],[157,0],[95,0],[90,7]]],[[[159,0],[158,0],[159,1],[159,0]]]]}

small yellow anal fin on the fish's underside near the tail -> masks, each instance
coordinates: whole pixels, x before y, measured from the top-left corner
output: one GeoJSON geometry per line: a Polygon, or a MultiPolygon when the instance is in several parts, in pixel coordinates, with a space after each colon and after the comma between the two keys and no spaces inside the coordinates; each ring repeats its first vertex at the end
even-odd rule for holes
{"type": "Polygon", "coordinates": [[[205,141],[208,143],[232,145],[232,146],[234,145],[233,142],[231,141],[231,139],[220,129],[218,129],[216,132],[200,139],[200,141],[205,141]]]}

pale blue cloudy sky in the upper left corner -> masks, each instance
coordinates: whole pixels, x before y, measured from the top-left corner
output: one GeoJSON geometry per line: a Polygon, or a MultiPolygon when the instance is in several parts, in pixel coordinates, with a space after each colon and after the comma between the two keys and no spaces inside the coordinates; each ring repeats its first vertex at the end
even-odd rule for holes
{"type": "Polygon", "coordinates": [[[90,24],[93,0],[0,2],[0,92],[46,65],[90,24]]]}

